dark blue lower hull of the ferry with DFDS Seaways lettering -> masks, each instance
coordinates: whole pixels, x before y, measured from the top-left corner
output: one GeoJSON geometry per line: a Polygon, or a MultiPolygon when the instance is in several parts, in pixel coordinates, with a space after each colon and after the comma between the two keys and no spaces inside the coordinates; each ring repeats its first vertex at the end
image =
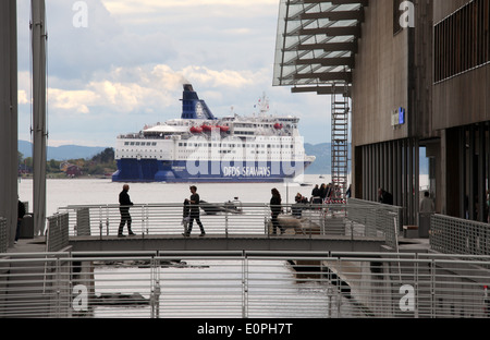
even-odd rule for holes
{"type": "Polygon", "coordinates": [[[119,159],[113,182],[167,183],[268,183],[294,179],[309,167],[309,161],[172,161],[157,159],[119,159]]]}

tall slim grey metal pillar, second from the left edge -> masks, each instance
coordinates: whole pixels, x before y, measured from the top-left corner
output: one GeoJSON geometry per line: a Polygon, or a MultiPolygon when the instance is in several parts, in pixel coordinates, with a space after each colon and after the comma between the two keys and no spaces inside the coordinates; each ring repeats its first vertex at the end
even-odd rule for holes
{"type": "Polygon", "coordinates": [[[34,233],[46,223],[46,9],[44,0],[32,0],[33,35],[33,134],[34,134],[34,233]]]}

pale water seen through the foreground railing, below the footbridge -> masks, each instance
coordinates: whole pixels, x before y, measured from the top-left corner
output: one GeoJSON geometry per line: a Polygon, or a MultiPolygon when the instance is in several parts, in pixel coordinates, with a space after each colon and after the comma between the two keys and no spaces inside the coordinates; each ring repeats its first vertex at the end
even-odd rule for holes
{"type": "MultiPolygon", "coordinates": [[[[159,316],[240,318],[245,314],[248,317],[323,318],[336,314],[336,308],[329,311],[331,286],[324,278],[301,279],[286,262],[250,260],[245,296],[242,269],[243,263],[236,259],[193,259],[186,260],[183,267],[159,268],[159,316]]],[[[155,274],[148,268],[97,268],[95,291],[96,294],[137,292],[149,299],[151,276],[155,274]]],[[[343,316],[353,315],[344,298],[341,305],[343,316]]],[[[130,313],[133,317],[149,317],[151,308],[98,306],[94,309],[95,317],[130,313]]]]}

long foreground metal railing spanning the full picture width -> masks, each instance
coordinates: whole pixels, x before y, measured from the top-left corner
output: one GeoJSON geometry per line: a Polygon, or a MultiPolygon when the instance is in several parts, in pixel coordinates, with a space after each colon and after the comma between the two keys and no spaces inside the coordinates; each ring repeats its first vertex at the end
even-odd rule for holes
{"type": "Polygon", "coordinates": [[[0,317],[489,317],[490,257],[44,253],[0,259],[0,317]]]}

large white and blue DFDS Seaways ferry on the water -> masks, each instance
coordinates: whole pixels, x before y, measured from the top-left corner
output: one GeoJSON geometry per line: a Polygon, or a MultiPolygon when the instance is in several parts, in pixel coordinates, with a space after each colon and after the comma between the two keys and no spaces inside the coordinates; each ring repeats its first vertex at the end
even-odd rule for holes
{"type": "Polygon", "coordinates": [[[119,135],[113,182],[281,182],[315,161],[305,154],[292,116],[258,112],[216,118],[191,84],[184,85],[182,116],[119,135]]]}

